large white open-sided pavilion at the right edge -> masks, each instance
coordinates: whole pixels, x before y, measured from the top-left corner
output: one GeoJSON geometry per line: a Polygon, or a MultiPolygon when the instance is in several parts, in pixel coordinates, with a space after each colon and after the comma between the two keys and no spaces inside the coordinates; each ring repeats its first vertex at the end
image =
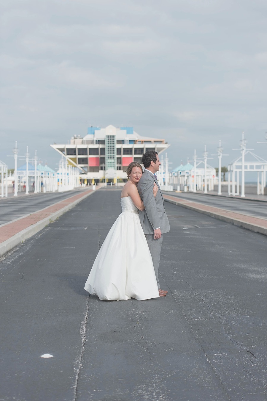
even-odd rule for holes
{"type": "Polygon", "coordinates": [[[239,158],[228,166],[228,194],[239,195],[239,176],[241,173],[241,197],[245,197],[245,172],[257,173],[257,194],[264,194],[266,185],[267,160],[250,150],[243,152],[239,158]],[[245,160],[245,159],[248,160],[245,160]],[[254,160],[251,160],[251,159],[254,160]]]}

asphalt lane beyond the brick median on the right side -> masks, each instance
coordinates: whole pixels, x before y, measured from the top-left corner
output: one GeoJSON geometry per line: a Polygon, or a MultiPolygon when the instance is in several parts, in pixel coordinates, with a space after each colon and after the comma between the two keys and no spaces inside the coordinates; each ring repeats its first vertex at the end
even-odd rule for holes
{"type": "Polygon", "coordinates": [[[203,203],[208,206],[219,207],[229,211],[245,215],[267,219],[267,202],[250,201],[248,199],[228,198],[204,194],[193,194],[192,192],[164,192],[167,195],[177,196],[192,202],[203,203]]]}

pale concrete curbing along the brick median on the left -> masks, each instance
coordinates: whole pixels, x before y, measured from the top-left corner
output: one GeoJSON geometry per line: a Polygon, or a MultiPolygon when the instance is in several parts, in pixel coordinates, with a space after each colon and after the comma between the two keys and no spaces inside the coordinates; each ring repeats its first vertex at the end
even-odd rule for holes
{"type": "MultiPolygon", "coordinates": [[[[39,231],[41,231],[44,227],[46,227],[48,224],[52,223],[55,221],[58,217],[62,216],[64,213],[72,209],[74,206],[76,206],[79,202],[83,201],[87,196],[90,196],[93,194],[95,191],[89,192],[82,196],[79,199],[76,199],[76,201],[70,203],[67,206],[62,207],[62,209],[56,211],[55,213],[52,213],[50,216],[45,217],[41,221],[38,221],[37,223],[31,225],[30,227],[27,227],[26,229],[20,231],[19,233],[13,235],[13,237],[7,239],[6,241],[2,242],[0,244],[0,257],[4,256],[6,253],[11,251],[14,247],[19,245],[20,243],[26,241],[26,239],[32,237],[33,235],[37,234],[39,231]]],[[[71,196],[70,196],[71,197],[71,196]]],[[[68,198],[67,198],[68,199],[68,198]]],[[[65,201],[67,200],[65,199],[65,201]]],[[[50,205],[51,206],[51,205],[50,205]]],[[[45,208],[47,209],[47,208],[45,208]]],[[[40,212],[40,211],[38,211],[40,212]]],[[[38,213],[37,212],[37,213],[38,213]]],[[[24,218],[23,216],[22,218],[24,218]]],[[[20,220],[20,219],[16,219],[20,220]]],[[[11,223],[11,222],[10,222],[11,223]]],[[[6,223],[5,225],[7,225],[6,223]]]]}

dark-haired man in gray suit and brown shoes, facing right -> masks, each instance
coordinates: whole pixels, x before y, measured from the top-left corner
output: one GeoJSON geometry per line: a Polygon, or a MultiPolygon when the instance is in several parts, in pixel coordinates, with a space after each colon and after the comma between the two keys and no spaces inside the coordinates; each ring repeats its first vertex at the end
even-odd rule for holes
{"type": "MultiPolygon", "coordinates": [[[[142,156],[142,163],[145,170],[137,184],[137,188],[145,210],[139,211],[139,217],[151,253],[159,288],[158,271],[162,234],[169,231],[169,220],[164,209],[163,195],[160,188],[157,191],[157,195],[155,197],[153,195],[154,183],[159,187],[155,173],[159,171],[161,162],[157,152],[155,150],[147,150],[142,156]]],[[[160,297],[165,297],[166,294],[167,291],[159,288],[160,297]]]]}

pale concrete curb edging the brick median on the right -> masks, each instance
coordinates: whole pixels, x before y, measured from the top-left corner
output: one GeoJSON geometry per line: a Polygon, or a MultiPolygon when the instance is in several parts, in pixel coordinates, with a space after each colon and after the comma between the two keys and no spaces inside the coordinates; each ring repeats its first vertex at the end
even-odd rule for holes
{"type": "Polygon", "coordinates": [[[267,229],[265,227],[261,227],[259,225],[255,225],[255,224],[252,224],[252,223],[247,223],[246,221],[242,221],[240,219],[234,219],[233,217],[223,216],[223,215],[220,215],[219,213],[209,212],[209,211],[206,211],[206,210],[201,210],[201,209],[198,209],[197,207],[194,207],[194,206],[190,206],[190,205],[187,205],[187,204],[184,204],[184,203],[172,201],[171,199],[164,198],[164,202],[169,202],[169,203],[172,203],[173,205],[176,205],[176,206],[185,207],[185,209],[189,209],[189,210],[193,210],[193,211],[198,212],[198,213],[202,213],[203,215],[207,215],[207,216],[213,217],[214,219],[217,219],[217,220],[225,221],[226,223],[231,223],[231,224],[236,225],[238,227],[242,227],[242,228],[245,228],[247,230],[253,231],[254,233],[267,235],[267,229]]]}

